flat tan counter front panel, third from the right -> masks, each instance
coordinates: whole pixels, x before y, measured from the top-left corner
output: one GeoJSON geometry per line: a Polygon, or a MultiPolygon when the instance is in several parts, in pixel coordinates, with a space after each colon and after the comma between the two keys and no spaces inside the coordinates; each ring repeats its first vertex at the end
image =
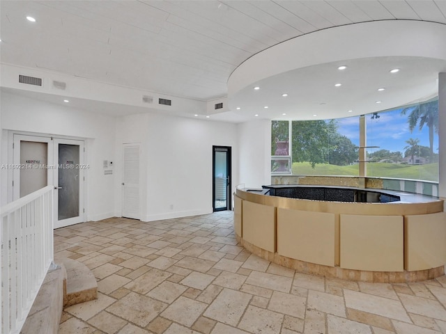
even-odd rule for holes
{"type": "Polygon", "coordinates": [[[277,209],[277,253],[334,267],[334,214],[277,209]]]}

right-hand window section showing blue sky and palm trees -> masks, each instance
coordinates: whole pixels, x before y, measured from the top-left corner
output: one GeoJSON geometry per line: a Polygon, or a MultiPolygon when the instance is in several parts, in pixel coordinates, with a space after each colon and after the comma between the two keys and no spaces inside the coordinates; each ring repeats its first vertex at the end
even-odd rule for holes
{"type": "Polygon", "coordinates": [[[438,100],[367,115],[367,175],[438,182],[438,100]]]}

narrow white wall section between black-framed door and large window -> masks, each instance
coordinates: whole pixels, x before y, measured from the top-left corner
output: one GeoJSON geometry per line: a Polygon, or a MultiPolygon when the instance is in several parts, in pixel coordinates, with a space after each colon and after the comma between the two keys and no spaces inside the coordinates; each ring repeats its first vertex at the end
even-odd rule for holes
{"type": "Polygon", "coordinates": [[[271,183],[271,121],[253,120],[238,125],[240,183],[261,188],[271,183]]]}

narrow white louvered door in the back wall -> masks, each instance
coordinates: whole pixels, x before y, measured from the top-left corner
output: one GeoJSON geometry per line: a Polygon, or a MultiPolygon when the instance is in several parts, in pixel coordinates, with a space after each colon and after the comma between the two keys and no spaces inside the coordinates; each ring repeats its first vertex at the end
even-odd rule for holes
{"type": "Polygon", "coordinates": [[[141,219],[139,210],[139,143],[123,144],[123,217],[141,219]]]}

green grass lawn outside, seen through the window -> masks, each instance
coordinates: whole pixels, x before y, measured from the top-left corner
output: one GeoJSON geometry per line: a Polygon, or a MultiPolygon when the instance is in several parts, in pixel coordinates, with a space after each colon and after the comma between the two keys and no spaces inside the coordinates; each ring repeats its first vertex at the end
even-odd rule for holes
{"type": "MultiPolygon", "coordinates": [[[[359,175],[359,166],[316,164],[313,169],[312,165],[307,162],[295,162],[293,163],[293,175],[359,175]]],[[[370,162],[367,164],[367,175],[438,182],[438,163],[413,166],[370,162]]]]}

